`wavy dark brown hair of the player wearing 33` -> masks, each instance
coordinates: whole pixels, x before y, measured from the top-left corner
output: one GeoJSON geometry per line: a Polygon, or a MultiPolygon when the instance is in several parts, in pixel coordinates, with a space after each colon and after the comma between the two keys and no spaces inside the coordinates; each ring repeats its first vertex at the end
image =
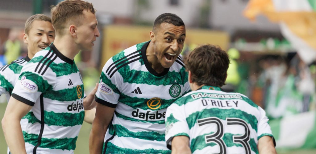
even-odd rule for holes
{"type": "Polygon", "coordinates": [[[191,71],[191,80],[197,85],[221,87],[225,84],[229,57],[219,46],[201,45],[184,59],[185,68],[191,71]]]}

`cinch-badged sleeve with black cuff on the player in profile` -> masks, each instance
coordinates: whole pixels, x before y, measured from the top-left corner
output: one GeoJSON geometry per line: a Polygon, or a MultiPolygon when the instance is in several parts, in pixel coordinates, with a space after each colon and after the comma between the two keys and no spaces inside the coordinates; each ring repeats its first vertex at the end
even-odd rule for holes
{"type": "MultiPolygon", "coordinates": [[[[39,73],[37,63],[27,63],[21,70],[18,81],[12,91],[12,97],[30,106],[34,106],[43,92],[52,89],[56,83],[56,74],[48,68],[39,73]]],[[[48,66],[47,66],[48,67],[48,66]]]]}

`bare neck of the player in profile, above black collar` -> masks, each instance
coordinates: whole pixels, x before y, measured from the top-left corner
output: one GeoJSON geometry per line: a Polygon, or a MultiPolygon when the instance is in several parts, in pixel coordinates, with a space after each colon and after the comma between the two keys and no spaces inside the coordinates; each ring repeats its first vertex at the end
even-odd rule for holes
{"type": "Polygon", "coordinates": [[[76,43],[73,41],[72,37],[67,35],[59,36],[56,35],[55,41],[53,43],[55,47],[59,50],[61,54],[67,58],[74,60],[75,56],[79,53],[79,49],[76,46],[76,43]],[[69,41],[65,41],[69,40],[69,41]]]}

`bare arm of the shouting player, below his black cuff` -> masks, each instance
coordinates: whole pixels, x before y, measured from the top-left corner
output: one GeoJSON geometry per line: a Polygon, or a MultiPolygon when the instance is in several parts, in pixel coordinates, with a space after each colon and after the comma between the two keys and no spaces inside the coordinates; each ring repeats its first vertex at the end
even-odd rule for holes
{"type": "Polygon", "coordinates": [[[97,104],[95,118],[89,137],[90,154],[102,153],[103,141],[106,130],[111,123],[115,108],[97,104]]]}

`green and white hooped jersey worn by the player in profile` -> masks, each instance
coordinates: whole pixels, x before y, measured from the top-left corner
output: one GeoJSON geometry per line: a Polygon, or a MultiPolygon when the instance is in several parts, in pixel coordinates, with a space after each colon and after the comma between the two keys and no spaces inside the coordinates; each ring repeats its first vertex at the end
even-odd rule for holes
{"type": "Polygon", "coordinates": [[[76,64],[54,44],[34,55],[12,92],[12,97],[33,106],[23,132],[27,153],[73,153],[84,119],[83,96],[76,64]]]}

